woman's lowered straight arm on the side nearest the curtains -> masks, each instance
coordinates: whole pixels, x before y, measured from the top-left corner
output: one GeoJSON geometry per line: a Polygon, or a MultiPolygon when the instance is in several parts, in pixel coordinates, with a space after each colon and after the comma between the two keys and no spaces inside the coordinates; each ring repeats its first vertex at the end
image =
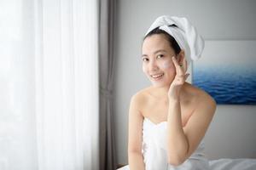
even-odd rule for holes
{"type": "Polygon", "coordinates": [[[145,169],[142,154],[143,115],[139,110],[139,107],[142,104],[142,99],[138,94],[131,97],[128,128],[128,161],[130,170],[145,169]]]}

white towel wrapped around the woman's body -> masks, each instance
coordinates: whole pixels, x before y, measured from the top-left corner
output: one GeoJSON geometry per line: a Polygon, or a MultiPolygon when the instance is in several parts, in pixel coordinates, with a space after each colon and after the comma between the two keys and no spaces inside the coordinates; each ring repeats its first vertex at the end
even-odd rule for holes
{"type": "MultiPolygon", "coordinates": [[[[166,156],[166,122],[154,124],[148,118],[143,122],[143,157],[145,169],[175,169],[172,165],[168,164],[166,156]]],[[[192,156],[189,157],[183,165],[176,167],[176,169],[188,170],[207,170],[208,161],[203,154],[204,141],[195,150],[192,156]]]]}

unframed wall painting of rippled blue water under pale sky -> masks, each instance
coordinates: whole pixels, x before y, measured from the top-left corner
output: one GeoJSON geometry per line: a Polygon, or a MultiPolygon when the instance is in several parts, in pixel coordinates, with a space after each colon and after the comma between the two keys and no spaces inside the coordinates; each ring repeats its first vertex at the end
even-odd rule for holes
{"type": "Polygon", "coordinates": [[[256,104],[256,41],[206,41],[192,84],[224,105],[256,104]]]}

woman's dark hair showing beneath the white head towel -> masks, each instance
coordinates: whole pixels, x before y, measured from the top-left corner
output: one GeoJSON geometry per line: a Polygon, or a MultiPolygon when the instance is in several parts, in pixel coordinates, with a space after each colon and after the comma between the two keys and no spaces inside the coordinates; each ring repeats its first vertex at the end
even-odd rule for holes
{"type": "MultiPolygon", "coordinates": [[[[173,25],[175,26],[175,25],[173,25]]],[[[175,54],[179,54],[181,51],[181,48],[177,44],[177,41],[172,37],[170,34],[168,34],[166,31],[160,30],[159,27],[154,28],[154,30],[148,32],[148,34],[143,38],[143,41],[154,34],[164,34],[166,37],[166,40],[169,42],[171,48],[174,49],[175,54]]]]}

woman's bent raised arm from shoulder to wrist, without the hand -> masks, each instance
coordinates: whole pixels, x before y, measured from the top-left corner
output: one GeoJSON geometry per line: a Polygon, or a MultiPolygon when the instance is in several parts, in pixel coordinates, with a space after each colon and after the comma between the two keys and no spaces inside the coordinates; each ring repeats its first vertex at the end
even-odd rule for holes
{"type": "Polygon", "coordinates": [[[179,99],[169,101],[167,153],[170,164],[178,166],[191,156],[207,132],[215,110],[215,101],[210,96],[206,96],[183,127],[179,99]]]}

